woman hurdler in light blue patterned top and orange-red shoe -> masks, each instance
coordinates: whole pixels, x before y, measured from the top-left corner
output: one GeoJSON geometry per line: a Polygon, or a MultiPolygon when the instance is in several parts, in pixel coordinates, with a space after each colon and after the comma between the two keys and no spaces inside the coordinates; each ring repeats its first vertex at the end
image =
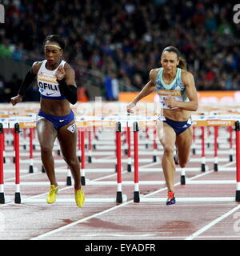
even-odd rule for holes
{"type": "Polygon", "coordinates": [[[166,205],[175,203],[174,173],[176,164],[184,168],[190,160],[193,128],[191,111],[198,110],[194,76],[186,70],[179,50],[168,46],[162,51],[161,68],[150,70],[150,81],[127,106],[129,112],[137,102],[157,91],[162,113],[158,116],[158,138],[163,146],[162,169],[168,189],[166,205]],[[177,155],[174,156],[174,146],[177,155]]]}

